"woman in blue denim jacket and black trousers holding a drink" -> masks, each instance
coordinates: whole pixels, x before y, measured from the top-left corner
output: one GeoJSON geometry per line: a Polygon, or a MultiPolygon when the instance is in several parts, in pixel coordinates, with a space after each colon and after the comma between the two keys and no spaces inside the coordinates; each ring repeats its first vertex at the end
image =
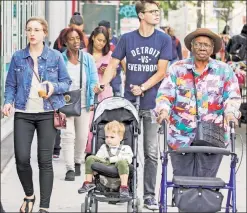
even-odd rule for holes
{"type": "Polygon", "coordinates": [[[3,114],[14,115],[14,151],[19,179],[26,197],[20,212],[32,212],[35,195],[30,165],[34,131],[38,138],[40,210],[48,212],[53,187],[52,153],[56,137],[54,112],[64,106],[63,93],[71,79],[62,55],[43,41],[48,33],[47,22],[32,17],[26,23],[29,44],[16,51],[11,59],[5,86],[3,114]],[[35,73],[34,73],[35,72],[35,73]],[[48,89],[39,96],[40,82],[48,89]],[[52,106],[51,106],[52,104],[52,106]]]}

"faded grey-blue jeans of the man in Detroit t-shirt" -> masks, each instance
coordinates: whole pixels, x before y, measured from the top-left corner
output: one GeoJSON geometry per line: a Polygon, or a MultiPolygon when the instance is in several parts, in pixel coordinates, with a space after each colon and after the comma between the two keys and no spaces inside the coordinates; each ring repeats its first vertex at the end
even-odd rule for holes
{"type": "Polygon", "coordinates": [[[139,116],[143,122],[144,149],[144,195],[143,199],[155,197],[156,176],[158,167],[158,143],[156,136],[158,124],[152,123],[150,110],[140,110],[139,116]]]}

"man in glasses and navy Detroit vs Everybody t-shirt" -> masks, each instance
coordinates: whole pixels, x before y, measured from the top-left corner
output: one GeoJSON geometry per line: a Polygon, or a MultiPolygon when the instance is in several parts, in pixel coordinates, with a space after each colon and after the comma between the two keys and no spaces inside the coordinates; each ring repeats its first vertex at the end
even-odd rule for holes
{"type": "MultiPolygon", "coordinates": [[[[172,41],[170,36],[155,29],[155,25],[160,21],[160,11],[155,1],[138,1],[135,6],[140,27],[122,35],[101,84],[106,85],[111,81],[116,75],[115,70],[119,62],[126,57],[124,97],[134,102],[136,96],[141,96],[139,115],[143,120],[144,206],[156,210],[158,209],[155,200],[158,125],[152,123],[150,110],[155,108],[155,97],[160,81],[165,77],[168,61],[172,58],[172,41]]],[[[94,91],[102,90],[97,86],[94,91]]]]}

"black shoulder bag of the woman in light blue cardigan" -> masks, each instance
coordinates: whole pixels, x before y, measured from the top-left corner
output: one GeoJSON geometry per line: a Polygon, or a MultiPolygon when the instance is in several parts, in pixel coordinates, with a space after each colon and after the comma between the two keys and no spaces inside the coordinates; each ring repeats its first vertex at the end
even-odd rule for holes
{"type": "Polygon", "coordinates": [[[67,116],[81,116],[81,88],[83,71],[83,52],[80,57],[80,89],[72,90],[63,94],[65,105],[60,109],[67,116]]]}

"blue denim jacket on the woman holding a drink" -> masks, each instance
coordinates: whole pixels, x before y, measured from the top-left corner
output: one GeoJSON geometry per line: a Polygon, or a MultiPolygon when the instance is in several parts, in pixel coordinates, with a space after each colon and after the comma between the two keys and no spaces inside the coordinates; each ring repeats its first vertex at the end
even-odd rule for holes
{"type": "MultiPolygon", "coordinates": [[[[33,78],[33,60],[29,53],[29,45],[14,53],[11,59],[5,83],[4,104],[15,104],[16,109],[25,110],[33,78]]],[[[62,54],[50,49],[44,44],[41,56],[38,57],[38,74],[42,81],[49,81],[54,86],[54,92],[49,98],[54,109],[65,105],[63,93],[69,90],[72,83],[62,54]]],[[[52,110],[48,100],[43,101],[44,110],[52,110]]]]}

